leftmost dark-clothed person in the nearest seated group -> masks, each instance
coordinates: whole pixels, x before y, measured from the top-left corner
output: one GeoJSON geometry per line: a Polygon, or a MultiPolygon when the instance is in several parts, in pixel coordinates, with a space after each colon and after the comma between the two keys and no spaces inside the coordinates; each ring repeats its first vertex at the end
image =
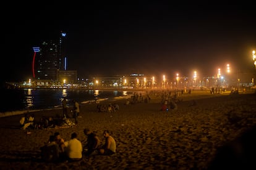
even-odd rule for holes
{"type": "Polygon", "coordinates": [[[55,142],[55,136],[49,136],[49,141],[43,147],[41,147],[40,150],[43,161],[59,161],[59,146],[55,142]]]}

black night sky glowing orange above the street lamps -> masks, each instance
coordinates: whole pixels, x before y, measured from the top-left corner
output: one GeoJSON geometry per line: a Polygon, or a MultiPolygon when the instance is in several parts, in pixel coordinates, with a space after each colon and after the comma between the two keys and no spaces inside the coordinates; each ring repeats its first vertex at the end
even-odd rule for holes
{"type": "Polygon", "coordinates": [[[80,78],[192,76],[194,70],[212,76],[218,68],[224,71],[226,63],[233,71],[254,71],[252,4],[26,3],[6,6],[8,12],[1,14],[4,81],[32,78],[32,47],[58,38],[61,30],[67,32],[67,68],[77,70],[80,78]]]}

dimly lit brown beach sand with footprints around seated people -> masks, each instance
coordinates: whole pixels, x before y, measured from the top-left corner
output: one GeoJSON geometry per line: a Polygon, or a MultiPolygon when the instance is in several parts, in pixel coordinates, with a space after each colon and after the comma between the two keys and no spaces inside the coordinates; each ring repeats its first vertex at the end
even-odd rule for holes
{"type": "MultiPolygon", "coordinates": [[[[54,129],[19,129],[21,115],[0,118],[0,169],[208,169],[218,167],[215,159],[221,147],[240,137],[256,124],[256,94],[210,94],[194,92],[179,96],[177,110],[161,111],[159,95],[149,103],[118,103],[113,113],[98,112],[96,103],[81,105],[79,124],[54,129]],[[195,105],[192,105],[194,100],[195,105]],[[85,127],[95,131],[104,144],[108,129],[116,140],[111,156],[83,156],[74,163],[44,163],[40,147],[54,132],[69,140],[77,132],[82,144],[85,127]]],[[[70,111],[70,110],[69,110],[70,111]]],[[[62,110],[35,112],[41,116],[61,115],[62,110]]],[[[255,148],[254,148],[255,150],[255,148]]]]}

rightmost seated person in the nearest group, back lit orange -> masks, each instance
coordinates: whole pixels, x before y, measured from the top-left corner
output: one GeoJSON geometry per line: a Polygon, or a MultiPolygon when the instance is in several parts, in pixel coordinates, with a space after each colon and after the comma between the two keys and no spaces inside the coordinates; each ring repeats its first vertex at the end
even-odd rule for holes
{"type": "Polygon", "coordinates": [[[105,145],[100,148],[100,153],[102,155],[113,155],[116,153],[116,141],[110,136],[108,130],[103,132],[103,136],[105,137],[105,145]]]}

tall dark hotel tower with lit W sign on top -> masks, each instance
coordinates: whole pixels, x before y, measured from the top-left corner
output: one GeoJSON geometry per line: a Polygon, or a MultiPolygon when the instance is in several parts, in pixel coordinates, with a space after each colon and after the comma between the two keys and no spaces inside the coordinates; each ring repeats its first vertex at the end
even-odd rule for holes
{"type": "Polygon", "coordinates": [[[43,41],[40,46],[33,47],[33,78],[35,80],[58,81],[58,72],[66,70],[64,39],[66,33],[61,32],[59,39],[43,41]]]}

